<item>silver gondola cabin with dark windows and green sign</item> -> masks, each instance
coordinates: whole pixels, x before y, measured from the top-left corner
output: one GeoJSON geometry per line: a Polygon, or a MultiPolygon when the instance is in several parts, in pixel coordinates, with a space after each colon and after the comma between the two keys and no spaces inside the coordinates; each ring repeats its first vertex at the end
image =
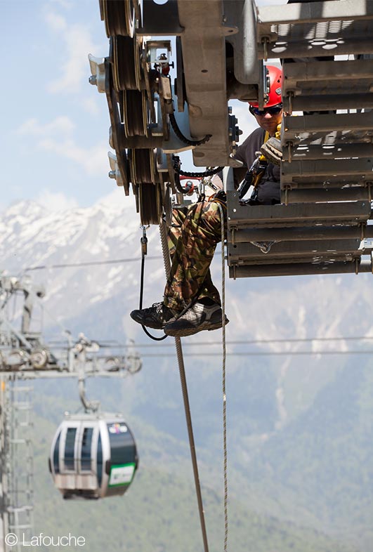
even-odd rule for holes
{"type": "Polygon", "coordinates": [[[49,470],[64,499],[122,495],[138,466],[133,435],[119,414],[65,414],[49,470]]]}

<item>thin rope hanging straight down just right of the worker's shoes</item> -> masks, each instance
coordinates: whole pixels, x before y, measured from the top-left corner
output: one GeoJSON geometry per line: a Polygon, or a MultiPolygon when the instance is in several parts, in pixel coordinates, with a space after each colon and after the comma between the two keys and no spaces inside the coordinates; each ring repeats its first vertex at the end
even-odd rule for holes
{"type": "Polygon", "coordinates": [[[228,470],[227,470],[227,398],[225,395],[225,258],[224,258],[224,213],[218,203],[221,217],[221,330],[223,341],[223,472],[224,472],[224,552],[228,550],[228,470]]]}

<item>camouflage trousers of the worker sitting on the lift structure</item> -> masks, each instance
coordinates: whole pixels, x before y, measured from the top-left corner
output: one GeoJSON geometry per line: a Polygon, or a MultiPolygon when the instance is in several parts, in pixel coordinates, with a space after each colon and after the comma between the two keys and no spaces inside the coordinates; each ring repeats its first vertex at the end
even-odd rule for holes
{"type": "MultiPolygon", "coordinates": [[[[225,211],[223,206],[224,216],[225,211]]],[[[174,209],[169,230],[172,265],[164,289],[167,307],[183,310],[196,294],[221,303],[209,268],[218,242],[221,242],[221,214],[216,202],[174,209]]]]}

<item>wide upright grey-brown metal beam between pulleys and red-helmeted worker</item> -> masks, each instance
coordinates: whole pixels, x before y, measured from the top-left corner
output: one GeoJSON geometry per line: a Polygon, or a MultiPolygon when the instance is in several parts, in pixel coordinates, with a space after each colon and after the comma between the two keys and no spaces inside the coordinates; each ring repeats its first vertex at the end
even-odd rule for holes
{"type": "Polygon", "coordinates": [[[196,166],[229,164],[228,103],[222,0],[178,0],[192,138],[212,135],[193,151],[196,166]]]}

